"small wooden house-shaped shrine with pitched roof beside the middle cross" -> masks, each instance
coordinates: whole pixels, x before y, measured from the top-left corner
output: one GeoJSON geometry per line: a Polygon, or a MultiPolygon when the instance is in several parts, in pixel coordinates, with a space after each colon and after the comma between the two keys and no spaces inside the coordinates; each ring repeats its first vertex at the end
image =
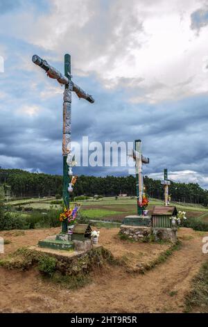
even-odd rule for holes
{"type": "Polygon", "coordinates": [[[152,227],[172,228],[172,216],[177,216],[177,209],[175,206],[165,207],[164,205],[155,205],[152,213],[152,227]]]}

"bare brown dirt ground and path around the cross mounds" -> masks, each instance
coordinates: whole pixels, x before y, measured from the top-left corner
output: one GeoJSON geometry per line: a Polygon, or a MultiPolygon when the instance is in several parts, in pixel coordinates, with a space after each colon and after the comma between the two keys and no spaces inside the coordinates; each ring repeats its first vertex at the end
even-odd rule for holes
{"type": "MultiPolygon", "coordinates": [[[[6,254],[21,246],[32,246],[60,228],[0,232],[11,241],[6,254]]],[[[132,244],[116,237],[118,229],[101,229],[101,243],[115,256],[134,264],[154,257],[161,245],[132,244]],[[148,256],[149,253],[149,256],[148,256]],[[155,254],[154,254],[155,253],[155,254]]],[[[0,269],[1,312],[183,312],[184,295],[191,279],[207,259],[202,254],[202,237],[208,233],[181,228],[182,248],[163,264],[144,275],[128,273],[123,267],[106,266],[94,271],[93,281],[77,290],[61,289],[42,280],[36,271],[0,269]]],[[[164,249],[164,248],[163,248],[164,249]]],[[[0,255],[3,257],[3,255],[0,255]]]]}

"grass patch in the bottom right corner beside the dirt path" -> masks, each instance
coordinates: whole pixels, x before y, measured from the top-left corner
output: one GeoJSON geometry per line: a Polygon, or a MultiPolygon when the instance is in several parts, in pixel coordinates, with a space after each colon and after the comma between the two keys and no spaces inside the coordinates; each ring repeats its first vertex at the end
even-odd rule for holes
{"type": "Polygon", "coordinates": [[[186,296],[185,312],[208,313],[208,260],[192,280],[192,289],[186,296]]]}

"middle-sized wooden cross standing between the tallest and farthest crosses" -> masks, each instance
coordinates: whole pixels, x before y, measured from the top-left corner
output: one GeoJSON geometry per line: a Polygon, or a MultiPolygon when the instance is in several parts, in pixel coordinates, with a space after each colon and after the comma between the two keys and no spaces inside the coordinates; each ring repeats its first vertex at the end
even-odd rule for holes
{"type": "Polygon", "coordinates": [[[142,199],[144,194],[144,181],[142,175],[142,163],[149,163],[150,159],[146,158],[141,153],[141,140],[135,140],[135,150],[132,150],[130,154],[135,160],[135,169],[136,169],[136,189],[137,189],[137,212],[139,215],[142,214],[142,199]]]}

